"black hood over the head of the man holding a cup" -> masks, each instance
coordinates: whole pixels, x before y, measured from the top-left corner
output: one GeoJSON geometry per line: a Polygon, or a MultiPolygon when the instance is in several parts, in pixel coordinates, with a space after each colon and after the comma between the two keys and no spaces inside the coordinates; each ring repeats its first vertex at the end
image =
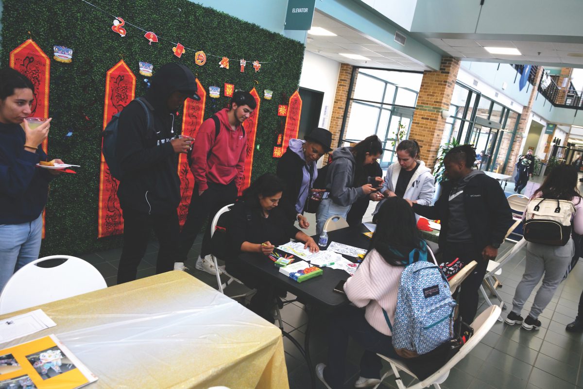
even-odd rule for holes
{"type": "Polygon", "coordinates": [[[196,78],[191,70],[180,63],[171,62],[161,66],[156,75],[152,77],[152,84],[146,92],[146,99],[154,109],[173,113],[168,111],[166,104],[168,97],[175,91],[190,93],[196,90],[196,78]]]}

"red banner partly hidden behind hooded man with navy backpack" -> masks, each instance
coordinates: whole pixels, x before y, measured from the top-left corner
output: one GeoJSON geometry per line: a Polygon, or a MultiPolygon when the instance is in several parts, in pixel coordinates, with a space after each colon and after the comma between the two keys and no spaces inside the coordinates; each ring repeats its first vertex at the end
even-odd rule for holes
{"type": "MultiPolygon", "coordinates": [[[[106,128],[113,115],[120,112],[130,101],[134,100],[135,89],[136,76],[129,70],[123,59],[116,63],[113,68],[107,70],[103,129],[106,128]]],[[[101,147],[103,147],[103,142],[101,147]]],[[[111,176],[103,153],[101,153],[97,238],[120,235],[124,232],[124,219],[121,216],[120,200],[117,198],[117,186],[119,183],[117,179],[111,176]]]]}

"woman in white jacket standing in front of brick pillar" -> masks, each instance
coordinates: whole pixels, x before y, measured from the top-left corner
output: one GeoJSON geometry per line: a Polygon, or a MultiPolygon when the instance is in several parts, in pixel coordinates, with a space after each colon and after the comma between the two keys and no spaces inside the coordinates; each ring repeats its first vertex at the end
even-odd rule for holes
{"type": "MultiPolygon", "coordinates": [[[[398,144],[396,153],[399,163],[392,164],[387,169],[381,188],[382,195],[401,197],[424,206],[431,205],[435,179],[425,163],[419,160],[419,143],[415,140],[403,140],[398,144]]],[[[384,201],[378,203],[373,215],[378,213],[384,201]]]]}

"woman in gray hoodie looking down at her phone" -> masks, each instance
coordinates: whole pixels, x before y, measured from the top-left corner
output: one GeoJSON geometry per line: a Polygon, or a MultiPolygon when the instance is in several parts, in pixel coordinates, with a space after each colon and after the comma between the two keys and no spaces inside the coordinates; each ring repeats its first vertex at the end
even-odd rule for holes
{"type": "Polygon", "coordinates": [[[316,232],[321,234],[331,216],[346,218],[350,206],[360,197],[374,191],[373,183],[380,185],[382,178],[369,178],[364,165],[375,162],[382,153],[382,143],[376,135],[361,140],[354,147],[339,147],[332,153],[332,163],[326,172],[325,188],[330,193],[322,200],[316,213],[316,232]]]}

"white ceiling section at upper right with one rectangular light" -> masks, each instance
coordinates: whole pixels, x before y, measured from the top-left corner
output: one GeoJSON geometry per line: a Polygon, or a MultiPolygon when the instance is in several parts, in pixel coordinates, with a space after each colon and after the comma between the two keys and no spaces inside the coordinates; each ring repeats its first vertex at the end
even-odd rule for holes
{"type": "Polygon", "coordinates": [[[557,63],[583,65],[583,44],[530,41],[492,41],[471,39],[426,38],[448,54],[462,59],[500,60],[504,62],[538,64],[557,63]],[[484,47],[514,47],[522,55],[490,54],[484,47]]]}

